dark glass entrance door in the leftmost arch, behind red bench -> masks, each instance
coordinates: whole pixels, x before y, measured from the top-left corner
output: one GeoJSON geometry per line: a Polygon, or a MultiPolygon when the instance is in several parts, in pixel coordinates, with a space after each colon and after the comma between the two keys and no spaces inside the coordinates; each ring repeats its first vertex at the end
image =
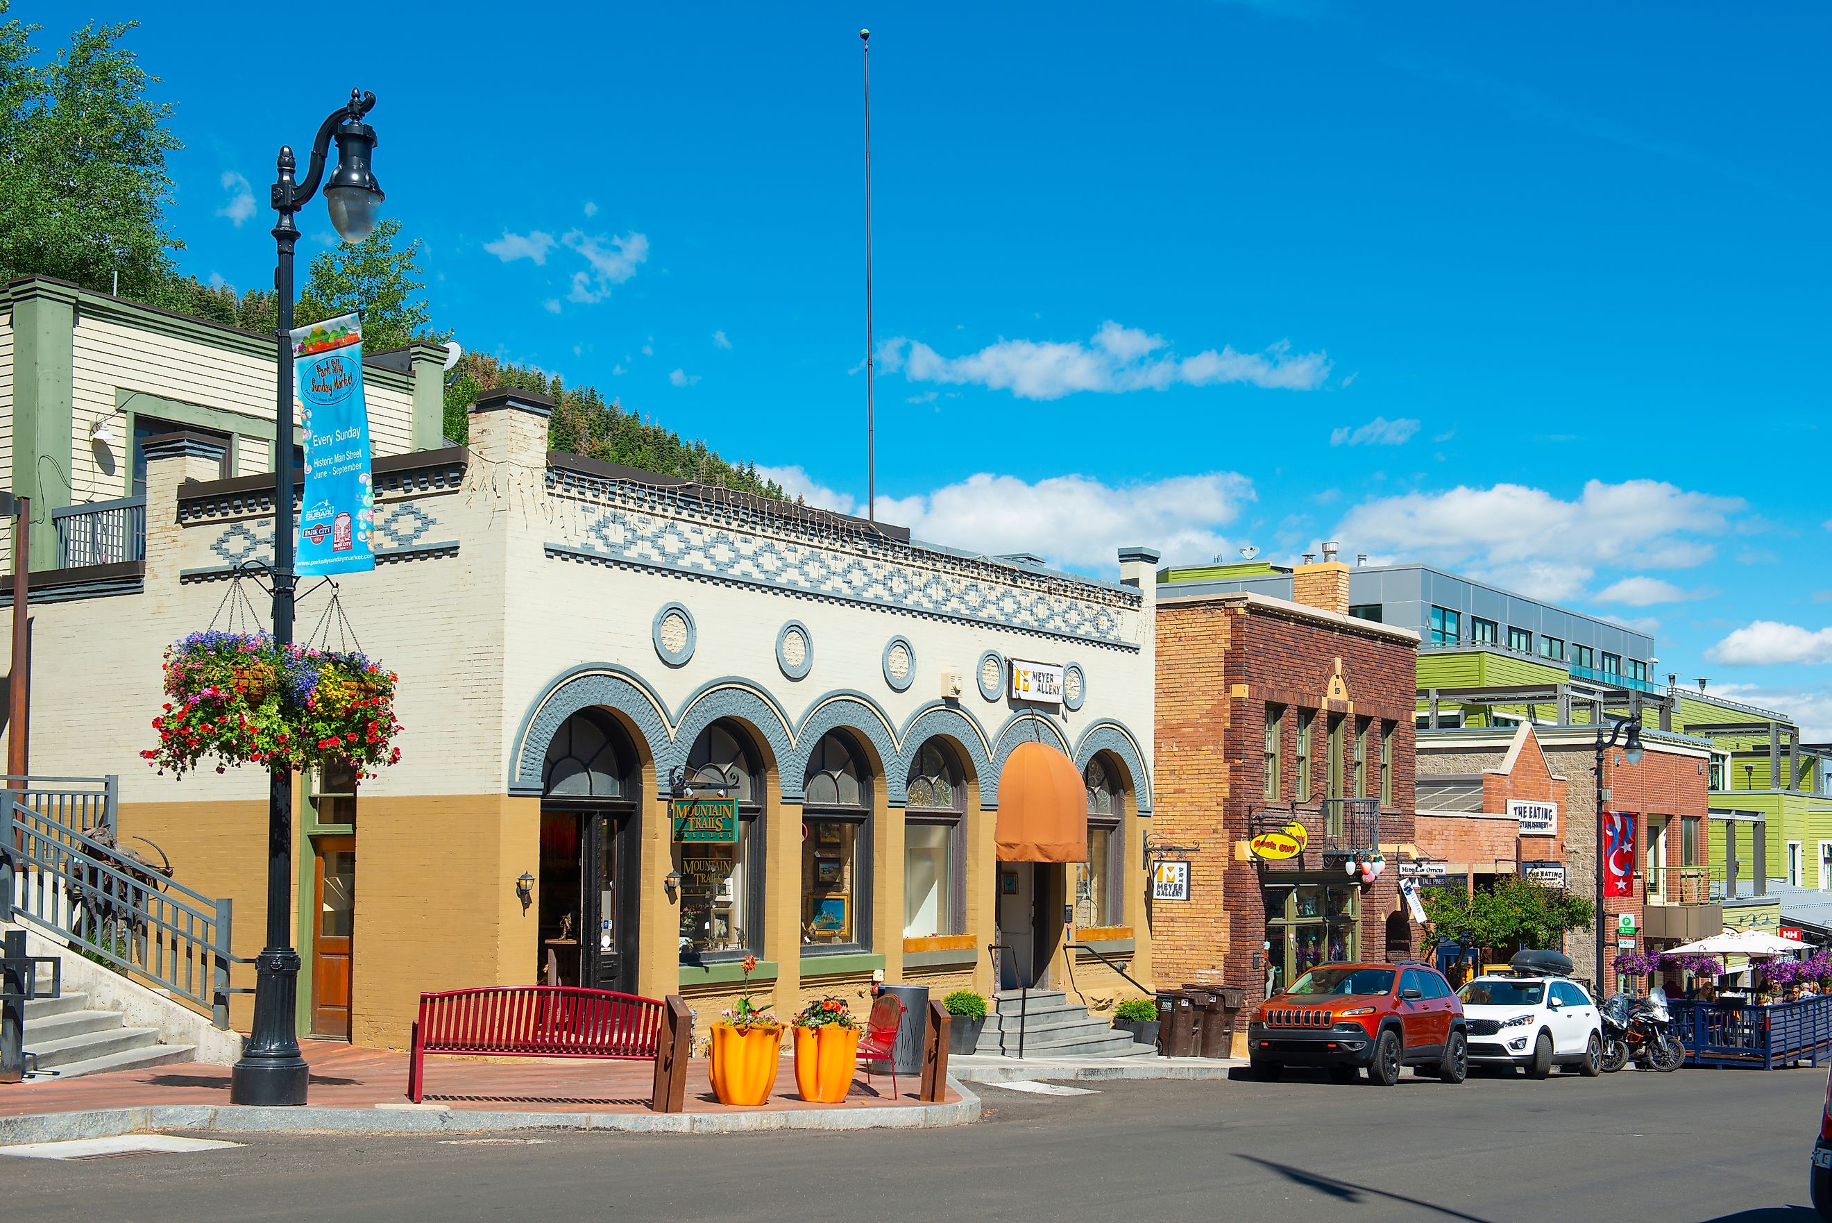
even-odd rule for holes
{"type": "Polygon", "coordinates": [[[636,990],[636,816],[616,809],[540,812],[544,985],[636,990]]]}

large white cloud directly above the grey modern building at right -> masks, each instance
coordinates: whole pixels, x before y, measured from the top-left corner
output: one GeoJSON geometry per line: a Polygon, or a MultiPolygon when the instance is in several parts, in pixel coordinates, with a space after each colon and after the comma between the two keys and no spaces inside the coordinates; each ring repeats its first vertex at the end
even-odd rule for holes
{"type": "Polygon", "coordinates": [[[1367,501],[1332,535],[1354,552],[1458,567],[1522,594],[1568,600],[1601,567],[1704,565],[1717,552],[1709,537],[1742,508],[1739,497],[1662,480],[1590,480],[1574,501],[1524,484],[1458,486],[1367,501]]]}

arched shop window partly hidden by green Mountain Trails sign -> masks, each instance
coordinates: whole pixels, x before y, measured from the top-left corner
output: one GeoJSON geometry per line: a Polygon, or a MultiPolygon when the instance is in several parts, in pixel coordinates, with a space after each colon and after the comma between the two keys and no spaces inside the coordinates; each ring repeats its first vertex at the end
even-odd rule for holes
{"type": "Polygon", "coordinates": [[[736,840],[676,842],[680,957],[707,964],[764,946],[764,761],[749,732],[720,719],[687,752],[680,798],[738,801],[736,840]]]}

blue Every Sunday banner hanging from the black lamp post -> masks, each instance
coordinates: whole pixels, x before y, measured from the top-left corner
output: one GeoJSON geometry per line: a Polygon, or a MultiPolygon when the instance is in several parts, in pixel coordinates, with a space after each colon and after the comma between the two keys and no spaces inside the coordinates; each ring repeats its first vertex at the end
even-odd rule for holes
{"type": "Polygon", "coordinates": [[[376,488],[363,403],[363,319],[354,314],[293,328],[293,383],[304,435],[299,502],[300,574],[376,568],[376,488]]]}

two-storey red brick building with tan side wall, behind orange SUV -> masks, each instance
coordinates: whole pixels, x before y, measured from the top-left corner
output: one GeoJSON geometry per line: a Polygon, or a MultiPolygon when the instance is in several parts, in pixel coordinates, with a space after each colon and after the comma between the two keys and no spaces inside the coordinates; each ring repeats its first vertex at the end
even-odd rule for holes
{"type": "Polygon", "coordinates": [[[1418,636],[1348,612],[1348,567],[1293,574],[1299,601],[1158,587],[1158,803],[1149,858],[1187,860],[1189,900],[1152,900],[1161,983],[1248,1001],[1328,959],[1400,959],[1412,853],[1418,636]],[[1262,831],[1301,825],[1290,858],[1262,831]],[[1385,858],[1370,884],[1358,858],[1385,858]]]}

